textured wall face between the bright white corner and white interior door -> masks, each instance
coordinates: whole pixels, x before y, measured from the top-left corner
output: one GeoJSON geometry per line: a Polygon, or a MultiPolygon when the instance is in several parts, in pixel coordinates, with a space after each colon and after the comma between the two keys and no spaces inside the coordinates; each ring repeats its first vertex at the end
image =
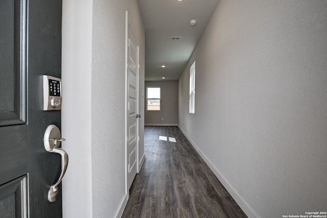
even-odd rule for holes
{"type": "Polygon", "coordinates": [[[125,11],[127,1],[93,1],[92,211],[116,214],[125,197],[125,11]]]}

